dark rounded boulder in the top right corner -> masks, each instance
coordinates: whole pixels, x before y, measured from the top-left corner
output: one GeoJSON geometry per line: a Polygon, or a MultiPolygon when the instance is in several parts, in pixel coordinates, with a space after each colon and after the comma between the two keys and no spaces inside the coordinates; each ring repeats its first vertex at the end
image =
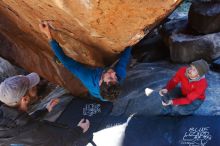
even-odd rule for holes
{"type": "Polygon", "coordinates": [[[201,34],[220,32],[220,1],[192,3],[189,25],[201,34]]]}

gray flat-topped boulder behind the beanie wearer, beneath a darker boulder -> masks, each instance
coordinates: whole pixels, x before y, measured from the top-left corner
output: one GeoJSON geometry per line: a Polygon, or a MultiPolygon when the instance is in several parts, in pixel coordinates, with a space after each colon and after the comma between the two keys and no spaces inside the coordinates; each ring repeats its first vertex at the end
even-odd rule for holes
{"type": "Polygon", "coordinates": [[[170,37],[170,57],[173,62],[190,63],[205,59],[211,62],[220,56],[220,33],[203,36],[172,34],[170,37]]]}

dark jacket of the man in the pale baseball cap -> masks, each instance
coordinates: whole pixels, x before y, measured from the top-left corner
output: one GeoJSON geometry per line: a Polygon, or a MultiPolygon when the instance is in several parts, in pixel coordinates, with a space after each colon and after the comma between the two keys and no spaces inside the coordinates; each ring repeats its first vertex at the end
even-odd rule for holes
{"type": "Polygon", "coordinates": [[[6,105],[0,107],[0,146],[73,146],[81,136],[80,127],[68,128],[57,123],[39,121],[15,108],[6,105]]]}

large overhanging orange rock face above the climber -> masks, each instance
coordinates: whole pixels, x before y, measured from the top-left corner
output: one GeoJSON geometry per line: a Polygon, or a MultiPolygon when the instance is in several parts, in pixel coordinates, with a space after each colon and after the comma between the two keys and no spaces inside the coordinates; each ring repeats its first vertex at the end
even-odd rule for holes
{"type": "Polygon", "coordinates": [[[181,0],[1,0],[0,33],[14,47],[0,50],[28,71],[67,87],[74,95],[85,89],[62,65],[40,33],[41,20],[53,21],[55,39],[81,63],[112,63],[123,49],[159,24],[181,0]],[[131,43],[130,43],[131,42],[131,43]]]}

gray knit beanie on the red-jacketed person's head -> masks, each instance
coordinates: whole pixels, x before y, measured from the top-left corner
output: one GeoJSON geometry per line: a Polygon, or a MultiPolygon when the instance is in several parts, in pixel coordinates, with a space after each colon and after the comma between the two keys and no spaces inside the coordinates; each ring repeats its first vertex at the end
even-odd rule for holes
{"type": "Polygon", "coordinates": [[[191,65],[195,66],[195,68],[197,69],[200,77],[202,77],[203,75],[205,75],[209,71],[209,65],[203,59],[193,61],[191,63],[191,65]]]}

